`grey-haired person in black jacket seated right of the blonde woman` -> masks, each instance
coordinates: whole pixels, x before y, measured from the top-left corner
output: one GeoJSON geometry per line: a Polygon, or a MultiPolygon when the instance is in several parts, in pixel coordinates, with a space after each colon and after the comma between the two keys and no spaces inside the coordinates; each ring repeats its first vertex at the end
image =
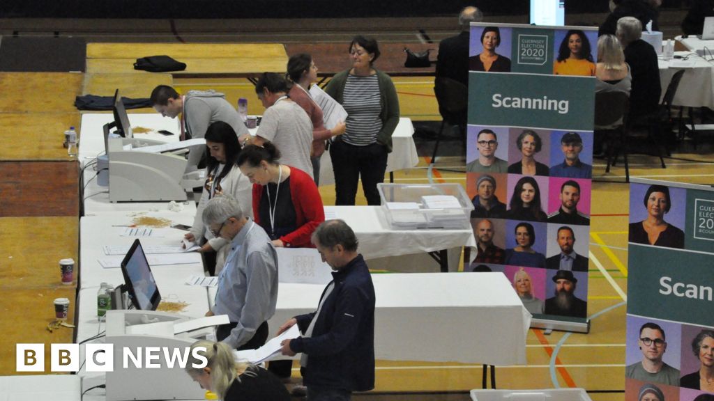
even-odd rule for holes
{"type": "Polygon", "coordinates": [[[625,16],[618,20],[616,36],[625,48],[625,62],[630,65],[630,123],[657,112],[662,94],[657,53],[652,45],[640,39],[642,25],[638,19],[625,16]]]}

